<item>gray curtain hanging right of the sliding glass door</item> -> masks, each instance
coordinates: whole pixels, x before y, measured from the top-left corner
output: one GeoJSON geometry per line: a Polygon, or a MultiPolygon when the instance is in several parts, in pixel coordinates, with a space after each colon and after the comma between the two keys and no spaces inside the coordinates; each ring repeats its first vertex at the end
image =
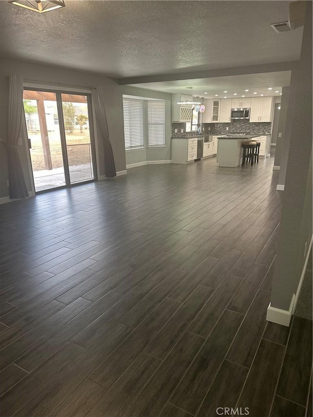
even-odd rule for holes
{"type": "Polygon", "coordinates": [[[105,175],[108,178],[116,176],[114,156],[110,142],[107,116],[104,107],[104,91],[102,87],[92,89],[92,99],[96,114],[98,132],[101,134],[100,140],[104,145],[104,165],[105,175]]]}

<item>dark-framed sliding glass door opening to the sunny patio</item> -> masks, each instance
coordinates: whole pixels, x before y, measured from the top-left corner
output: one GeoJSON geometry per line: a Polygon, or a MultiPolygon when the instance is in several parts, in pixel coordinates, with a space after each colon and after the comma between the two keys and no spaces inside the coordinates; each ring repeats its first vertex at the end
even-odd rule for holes
{"type": "Polygon", "coordinates": [[[82,94],[24,90],[36,192],[94,178],[89,100],[82,94]]]}

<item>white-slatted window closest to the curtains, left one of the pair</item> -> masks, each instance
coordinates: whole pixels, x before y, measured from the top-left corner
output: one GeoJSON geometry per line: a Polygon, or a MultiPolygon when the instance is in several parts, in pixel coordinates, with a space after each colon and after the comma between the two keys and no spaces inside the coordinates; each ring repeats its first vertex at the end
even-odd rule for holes
{"type": "Polygon", "coordinates": [[[125,149],[143,147],[143,102],[123,99],[125,149]]]}

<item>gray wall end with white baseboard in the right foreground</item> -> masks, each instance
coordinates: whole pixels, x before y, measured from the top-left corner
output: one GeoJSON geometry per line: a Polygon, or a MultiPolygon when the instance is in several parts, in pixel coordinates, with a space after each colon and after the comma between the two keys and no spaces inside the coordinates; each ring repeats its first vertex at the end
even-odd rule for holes
{"type": "MultiPolygon", "coordinates": [[[[289,109],[290,110],[290,109],[289,109]]],[[[288,114],[290,111],[287,112],[288,114]]],[[[289,326],[312,241],[312,2],[307,1],[268,320],[289,326]]],[[[287,114],[286,134],[289,120],[287,114]]],[[[285,139],[286,139],[285,134],[285,139]]],[[[281,172],[281,171],[280,171],[281,172]]]]}

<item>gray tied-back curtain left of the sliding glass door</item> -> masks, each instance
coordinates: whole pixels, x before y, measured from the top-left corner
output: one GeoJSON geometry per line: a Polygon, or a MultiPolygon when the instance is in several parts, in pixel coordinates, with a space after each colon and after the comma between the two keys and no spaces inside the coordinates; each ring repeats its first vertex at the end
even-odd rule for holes
{"type": "Polygon", "coordinates": [[[8,137],[5,142],[8,153],[10,198],[28,197],[18,153],[18,143],[20,137],[22,137],[24,122],[23,77],[21,75],[10,75],[8,137]]]}

